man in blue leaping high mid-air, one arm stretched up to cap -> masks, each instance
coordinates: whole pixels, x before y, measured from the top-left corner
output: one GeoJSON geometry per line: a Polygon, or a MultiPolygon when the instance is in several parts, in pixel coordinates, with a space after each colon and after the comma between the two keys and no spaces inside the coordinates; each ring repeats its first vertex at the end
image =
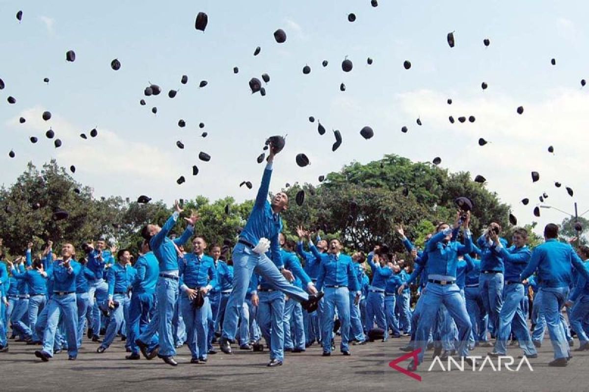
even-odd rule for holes
{"type": "MultiPolygon", "coordinates": [[[[267,200],[272,164],[276,155],[273,143],[270,143],[269,150],[268,163],[264,169],[262,184],[252,213],[233,249],[233,290],[227,301],[223,334],[220,339],[221,351],[226,354],[231,353],[230,341],[235,339],[239,314],[254,270],[290,298],[299,302],[309,300],[305,291],[289,283],[294,280],[293,274],[284,269],[282,257],[280,257],[278,239],[278,234],[282,231],[280,213],[287,209],[289,199],[286,193],[279,192],[272,198],[272,203],[267,200]],[[268,250],[272,252],[272,260],[266,256],[268,250]]],[[[310,286],[307,290],[311,294],[316,294],[314,286],[310,286]]]]}

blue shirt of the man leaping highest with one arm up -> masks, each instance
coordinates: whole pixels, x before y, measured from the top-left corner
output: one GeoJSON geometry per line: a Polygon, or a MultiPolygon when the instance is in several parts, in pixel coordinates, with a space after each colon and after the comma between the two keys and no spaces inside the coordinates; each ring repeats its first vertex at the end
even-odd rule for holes
{"type": "Polygon", "coordinates": [[[270,177],[272,177],[272,163],[269,163],[264,169],[262,183],[256,196],[256,202],[247,218],[246,227],[239,234],[241,239],[246,240],[253,246],[260,242],[260,238],[270,240],[270,252],[272,261],[279,269],[283,267],[282,257],[280,257],[280,242],[278,234],[282,230],[282,220],[279,214],[274,214],[272,206],[268,202],[268,192],[270,190],[270,177]]]}

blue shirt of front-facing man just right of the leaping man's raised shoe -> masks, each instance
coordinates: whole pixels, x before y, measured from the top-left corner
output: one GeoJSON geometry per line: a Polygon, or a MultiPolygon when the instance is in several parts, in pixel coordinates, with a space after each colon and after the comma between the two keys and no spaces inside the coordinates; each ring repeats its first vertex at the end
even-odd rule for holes
{"type": "Polygon", "coordinates": [[[323,289],[323,284],[325,284],[325,286],[346,286],[351,291],[360,291],[360,284],[356,279],[352,264],[352,257],[347,254],[326,254],[319,267],[317,290],[323,289]]]}

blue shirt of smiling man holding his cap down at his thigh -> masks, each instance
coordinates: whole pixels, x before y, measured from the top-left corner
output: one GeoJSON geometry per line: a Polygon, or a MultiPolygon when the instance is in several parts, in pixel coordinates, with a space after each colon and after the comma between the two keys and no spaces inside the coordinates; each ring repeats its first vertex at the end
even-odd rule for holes
{"type": "Polygon", "coordinates": [[[196,289],[207,287],[209,290],[217,286],[217,270],[213,258],[203,254],[198,256],[194,253],[187,253],[180,259],[180,289],[196,289]]]}

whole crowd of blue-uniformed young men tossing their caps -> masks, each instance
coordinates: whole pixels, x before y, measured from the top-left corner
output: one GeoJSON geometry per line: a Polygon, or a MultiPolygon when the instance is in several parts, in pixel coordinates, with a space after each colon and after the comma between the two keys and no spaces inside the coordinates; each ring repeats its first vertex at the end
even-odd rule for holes
{"type": "Polygon", "coordinates": [[[107,249],[104,240],[84,244],[81,252],[64,243],[59,256],[49,241],[37,257],[29,243],[25,256],[5,258],[0,353],[9,349],[8,326],[11,339],[41,346],[35,356],[42,361],[62,350],[77,359],[85,334],[97,354],[121,336],[126,359],[159,357],[171,366],[184,344],[190,363],[203,364],[217,353],[216,343],[226,354],[231,344],[267,347],[268,366],[281,366],[285,351],[300,353],[316,343],[331,356],[337,335],[345,356],[350,344],[411,336],[401,348],[421,349],[411,370],[428,349],[472,364],[474,347],[489,347],[488,355],[499,357],[518,344],[522,356],[533,359],[546,327],[551,366],[567,366],[574,334],[580,340],[575,350],[589,350],[589,261],[583,261],[589,248],[559,242],[557,225],[545,227],[545,242],[534,249],[526,230],[515,228],[508,246],[494,222],[472,239],[470,212],[459,211],[419,250],[399,226],[412,266],[386,244],[349,256],[340,240],[328,242],[302,226],[295,242],[282,233],[288,196],[267,199],[278,152],[280,146],[270,143],[252,213],[231,256],[230,244],[209,245],[194,233],[197,215],[184,218],[188,226],[180,237],[171,236],[183,212],[176,203],[163,227],[143,227],[136,259],[126,249],[107,249]],[[188,241],[191,252],[184,250],[188,241]]]}

